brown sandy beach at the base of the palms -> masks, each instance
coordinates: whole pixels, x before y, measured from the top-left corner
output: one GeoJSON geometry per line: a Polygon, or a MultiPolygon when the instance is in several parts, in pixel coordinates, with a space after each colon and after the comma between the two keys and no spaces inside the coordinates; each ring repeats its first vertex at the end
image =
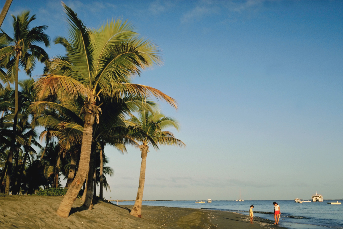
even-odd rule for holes
{"type": "Polygon", "coordinates": [[[92,210],[79,208],[80,199],[76,199],[72,214],[67,218],[56,215],[63,197],[55,196],[2,196],[0,199],[1,229],[4,228],[177,228],[177,229],[259,229],[280,228],[272,221],[249,217],[227,211],[215,211],[192,208],[143,206],[142,218],[129,215],[130,207],[115,205],[104,201],[94,204],[92,210]]]}

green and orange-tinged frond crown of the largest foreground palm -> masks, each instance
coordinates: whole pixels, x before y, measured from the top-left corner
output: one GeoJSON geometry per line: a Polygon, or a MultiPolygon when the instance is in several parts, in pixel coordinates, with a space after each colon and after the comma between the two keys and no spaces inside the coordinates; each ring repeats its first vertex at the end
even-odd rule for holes
{"type": "Polygon", "coordinates": [[[39,98],[49,94],[84,96],[154,96],[173,107],[176,101],[161,91],[131,83],[142,69],[162,64],[156,44],[139,37],[133,26],[121,19],[89,29],[77,14],[63,3],[68,19],[68,38],[57,37],[55,44],[66,48],[66,56],[49,62],[46,75],[37,82],[39,98]],[[63,90],[61,90],[63,88],[63,90]]]}

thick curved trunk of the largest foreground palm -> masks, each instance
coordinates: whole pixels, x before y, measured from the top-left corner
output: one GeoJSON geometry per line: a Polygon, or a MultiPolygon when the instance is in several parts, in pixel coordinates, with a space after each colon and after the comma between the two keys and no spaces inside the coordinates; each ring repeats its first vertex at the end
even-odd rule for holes
{"type": "Polygon", "coordinates": [[[99,111],[101,112],[99,106],[96,106],[94,104],[94,95],[86,97],[85,105],[82,107],[81,110],[81,112],[84,113],[84,127],[82,135],[79,168],[73,182],[69,186],[68,191],[61,202],[61,205],[57,209],[57,215],[64,218],[68,218],[69,216],[70,210],[75,202],[75,199],[78,196],[79,191],[83,185],[83,182],[86,179],[86,174],[90,165],[94,119],[95,116],[99,114],[99,111]]]}

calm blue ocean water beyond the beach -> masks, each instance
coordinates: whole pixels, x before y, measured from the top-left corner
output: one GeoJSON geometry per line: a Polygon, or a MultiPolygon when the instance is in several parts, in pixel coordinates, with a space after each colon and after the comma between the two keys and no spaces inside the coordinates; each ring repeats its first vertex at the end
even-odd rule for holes
{"type": "MultiPolygon", "coordinates": [[[[205,200],[204,200],[205,201],[205,200]]],[[[222,211],[234,211],[249,215],[249,206],[254,205],[254,216],[274,220],[274,201],[212,201],[212,203],[196,204],[195,201],[143,201],[143,205],[203,208],[222,211]],[[269,214],[268,214],[269,213],[269,214]]],[[[327,202],[276,201],[280,205],[281,218],[279,225],[290,229],[342,229],[343,205],[330,205],[327,202]]],[[[342,202],[342,201],[339,201],[342,202]]],[[[116,204],[116,202],[113,202],[116,204]]],[[[134,202],[122,202],[119,205],[133,205],[134,202]]]]}

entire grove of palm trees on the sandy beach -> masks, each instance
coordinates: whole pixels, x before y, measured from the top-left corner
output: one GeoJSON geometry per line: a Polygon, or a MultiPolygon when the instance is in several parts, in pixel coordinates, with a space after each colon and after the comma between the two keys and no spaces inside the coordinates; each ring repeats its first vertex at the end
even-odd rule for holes
{"type": "Polygon", "coordinates": [[[1,193],[61,192],[56,213],[68,218],[78,196],[83,209],[92,209],[94,198],[103,199],[103,188],[109,188],[106,178],[114,170],[106,165],[105,147],[124,153],[133,146],[142,164],[130,214],[141,217],[149,147],[185,146],[165,130],[179,130],[178,122],[155,102],[176,109],[176,101],[132,83],[141,71],[162,65],[161,51],[127,21],[89,28],[62,4],[67,37],[50,38],[47,25],[32,26],[36,15],[29,11],[13,16],[13,31],[1,29],[1,193]],[[52,44],[65,53],[48,56],[45,48],[52,44]],[[45,67],[34,79],[37,62],[45,67]],[[19,71],[27,79],[19,81],[19,71]]]}

